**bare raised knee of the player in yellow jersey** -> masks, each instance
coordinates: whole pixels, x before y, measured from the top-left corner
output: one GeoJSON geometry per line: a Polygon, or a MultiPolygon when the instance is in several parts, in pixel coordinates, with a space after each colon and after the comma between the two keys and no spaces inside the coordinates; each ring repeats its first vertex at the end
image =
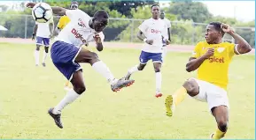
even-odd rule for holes
{"type": "Polygon", "coordinates": [[[196,96],[199,93],[198,83],[192,78],[185,81],[182,86],[187,90],[191,97],[196,96]]]}

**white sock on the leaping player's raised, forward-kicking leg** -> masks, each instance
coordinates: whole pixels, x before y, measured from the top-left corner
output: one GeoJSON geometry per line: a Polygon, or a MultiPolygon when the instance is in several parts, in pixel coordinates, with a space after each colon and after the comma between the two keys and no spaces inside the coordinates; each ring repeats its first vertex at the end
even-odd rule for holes
{"type": "Polygon", "coordinates": [[[96,70],[99,74],[101,74],[103,77],[105,77],[111,85],[117,82],[117,79],[113,77],[112,72],[102,61],[93,63],[92,68],[96,70]]]}

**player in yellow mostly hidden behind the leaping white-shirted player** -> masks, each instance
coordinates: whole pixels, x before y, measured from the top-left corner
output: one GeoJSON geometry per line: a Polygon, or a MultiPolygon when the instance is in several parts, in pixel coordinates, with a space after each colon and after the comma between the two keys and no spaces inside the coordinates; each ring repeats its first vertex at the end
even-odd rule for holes
{"type": "MultiPolygon", "coordinates": [[[[72,2],[69,6],[70,10],[76,10],[78,9],[78,3],[77,2],[72,2]]],[[[69,23],[70,19],[64,15],[61,18],[59,18],[58,20],[58,25],[55,28],[55,33],[59,33],[68,23],[69,23]]]]}

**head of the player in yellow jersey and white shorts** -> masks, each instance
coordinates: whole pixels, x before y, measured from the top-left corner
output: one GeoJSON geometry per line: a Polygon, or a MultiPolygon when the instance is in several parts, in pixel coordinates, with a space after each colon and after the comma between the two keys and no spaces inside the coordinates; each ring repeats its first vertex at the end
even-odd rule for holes
{"type": "Polygon", "coordinates": [[[215,44],[221,41],[224,32],[221,30],[221,22],[211,22],[206,26],[206,41],[215,44]]]}

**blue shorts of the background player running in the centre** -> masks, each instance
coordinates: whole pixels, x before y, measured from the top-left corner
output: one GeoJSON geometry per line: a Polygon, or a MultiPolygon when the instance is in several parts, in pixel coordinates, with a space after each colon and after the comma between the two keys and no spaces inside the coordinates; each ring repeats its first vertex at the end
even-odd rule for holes
{"type": "Polygon", "coordinates": [[[145,64],[149,60],[152,60],[153,63],[163,63],[162,53],[148,53],[142,51],[140,55],[140,63],[145,64]]]}

